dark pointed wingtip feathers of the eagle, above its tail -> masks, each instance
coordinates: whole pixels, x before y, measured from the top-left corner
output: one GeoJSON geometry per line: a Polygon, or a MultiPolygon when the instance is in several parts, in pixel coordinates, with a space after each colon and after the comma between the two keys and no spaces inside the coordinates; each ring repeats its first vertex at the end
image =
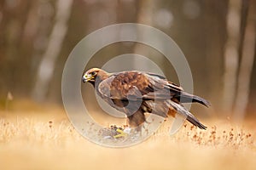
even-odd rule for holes
{"type": "Polygon", "coordinates": [[[208,102],[206,99],[202,99],[199,96],[188,94],[185,92],[183,92],[182,94],[178,94],[177,96],[175,96],[175,98],[177,98],[181,103],[196,102],[207,107],[211,106],[210,102],[208,102]]]}

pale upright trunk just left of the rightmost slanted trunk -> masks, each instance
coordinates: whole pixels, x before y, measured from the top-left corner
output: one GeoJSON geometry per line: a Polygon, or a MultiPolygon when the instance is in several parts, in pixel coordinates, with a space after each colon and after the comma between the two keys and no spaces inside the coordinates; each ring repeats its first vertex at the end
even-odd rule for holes
{"type": "Polygon", "coordinates": [[[239,60],[241,0],[230,0],[227,14],[227,42],[224,49],[224,111],[230,114],[236,97],[239,60]]]}

